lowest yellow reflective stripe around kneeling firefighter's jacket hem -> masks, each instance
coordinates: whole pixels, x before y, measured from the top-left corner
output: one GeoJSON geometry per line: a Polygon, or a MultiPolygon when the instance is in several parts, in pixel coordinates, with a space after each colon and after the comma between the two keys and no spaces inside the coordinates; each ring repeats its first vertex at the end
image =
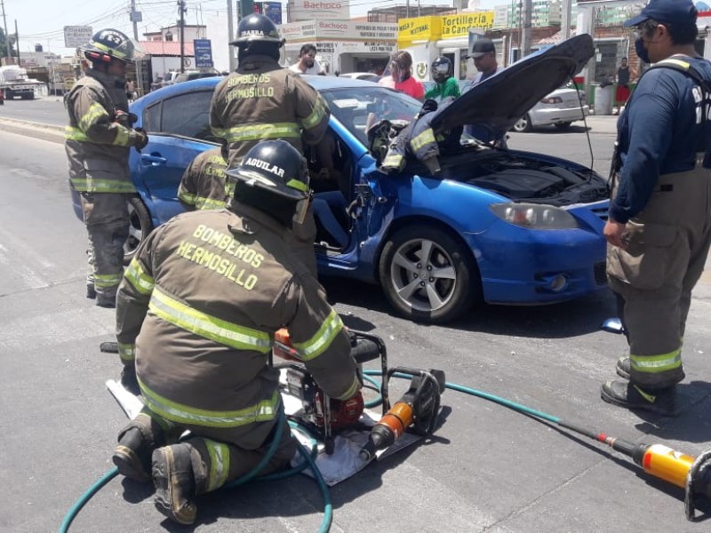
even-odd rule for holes
{"type": "Polygon", "coordinates": [[[280,396],[276,390],[271,398],[240,410],[215,411],[197,409],[183,403],[172,402],[150,390],[139,378],[140,392],[146,407],[156,415],[176,424],[204,427],[239,427],[274,420],[279,407],[280,396]]]}

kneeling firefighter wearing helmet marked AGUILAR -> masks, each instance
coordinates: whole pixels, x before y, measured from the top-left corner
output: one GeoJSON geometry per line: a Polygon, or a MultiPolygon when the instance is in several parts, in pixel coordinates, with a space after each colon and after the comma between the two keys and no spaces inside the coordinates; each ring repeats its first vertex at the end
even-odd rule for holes
{"type": "Polygon", "coordinates": [[[228,176],[228,209],[156,228],[116,302],[119,351],[145,409],[119,434],[113,460],[133,480],[152,477],[157,509],[182,524],[195,521],[196,495],[260,462],[277,423],[283,437],[261,473],[294,454],[279,372],[268,364],[276,330],[289,330],[326,394],[348,399],[362,386],[339,315],[285,241],[306,213],[306,160],[284,140],[265,140],[228,176]]]}

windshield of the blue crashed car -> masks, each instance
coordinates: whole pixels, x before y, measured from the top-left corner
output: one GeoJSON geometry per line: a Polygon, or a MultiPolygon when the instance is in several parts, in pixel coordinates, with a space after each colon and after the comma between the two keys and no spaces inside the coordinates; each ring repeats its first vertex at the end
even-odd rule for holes
{"type": "Polygon", "coordinates": [[[422,104],[403,92],[373,84],[323,91],[331,113],[368,146],[367,128],[380,120],[412,120],[422,104]]]}

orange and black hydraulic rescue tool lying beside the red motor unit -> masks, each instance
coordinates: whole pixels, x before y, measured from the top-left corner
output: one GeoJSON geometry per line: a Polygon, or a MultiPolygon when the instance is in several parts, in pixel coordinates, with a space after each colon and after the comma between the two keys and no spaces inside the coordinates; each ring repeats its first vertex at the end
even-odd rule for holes
{"type": "MultiPolygon", "coordinates": [[[[409,428],[412,433],[420,435],[431,434],[435,429],[440,396],[444,392],[444,372],[397,367],[383,374],[383,383],[395,373],[411,375],[410,388],[371,429],[368,442],[360,451],[364,461],[370,460],[376,451],[391,446],[409,428]]],[[[384,402],[385,409],[387,405],[384,402]]]]}

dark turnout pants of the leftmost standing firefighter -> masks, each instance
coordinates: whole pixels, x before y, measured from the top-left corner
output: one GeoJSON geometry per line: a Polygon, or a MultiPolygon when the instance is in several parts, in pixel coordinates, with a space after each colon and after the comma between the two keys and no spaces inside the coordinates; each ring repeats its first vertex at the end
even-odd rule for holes
{"type": "Polygon", "coordinates": [[[86,284],[97,295],[113,298],[124,274],[124,243],[130,219],[128,196],[118,193],[81,193],[84,225],[89,235],[86,284]]]}

